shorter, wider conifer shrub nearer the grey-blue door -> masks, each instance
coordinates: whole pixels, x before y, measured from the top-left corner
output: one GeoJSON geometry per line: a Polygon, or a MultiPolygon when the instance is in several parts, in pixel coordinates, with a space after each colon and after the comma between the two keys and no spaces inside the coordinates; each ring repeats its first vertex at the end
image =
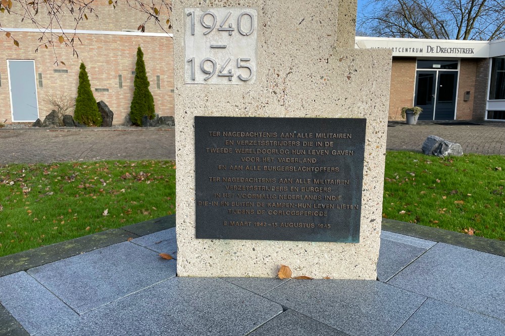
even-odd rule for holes
{"type": "Polygon", "coordinates": [[[81,62],[79,71],[79,86],[75,99],[74,120],[87,126],[102,125],[102,114],[91,91],[86,66],[81,62]]]}

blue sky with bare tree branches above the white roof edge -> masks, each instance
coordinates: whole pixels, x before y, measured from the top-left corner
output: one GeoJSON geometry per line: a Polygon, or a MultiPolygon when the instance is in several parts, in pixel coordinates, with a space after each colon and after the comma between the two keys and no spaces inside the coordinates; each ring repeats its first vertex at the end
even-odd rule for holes
{"type": "Polygon", "coordinates": [[[369,36],[428,39],[505,37],[503,0],[369,0],[358,29],[369,36]]]}

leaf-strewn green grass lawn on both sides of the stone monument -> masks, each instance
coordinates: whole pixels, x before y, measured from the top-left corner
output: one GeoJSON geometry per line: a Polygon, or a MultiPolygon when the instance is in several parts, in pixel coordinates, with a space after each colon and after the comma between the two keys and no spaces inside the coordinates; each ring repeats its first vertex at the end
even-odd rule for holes
{"type": "MultiPolygon", "coordinates": [[[[383,217],[505,240],[505,158],[388,152],[383,217]]],[[[175,164],[0,165],[0,256],[175,213],[175,164]]]]}

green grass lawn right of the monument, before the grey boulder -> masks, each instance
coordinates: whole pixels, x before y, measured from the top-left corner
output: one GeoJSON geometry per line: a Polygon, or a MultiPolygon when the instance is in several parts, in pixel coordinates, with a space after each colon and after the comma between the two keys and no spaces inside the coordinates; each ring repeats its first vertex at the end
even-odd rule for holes
{"type": "Polygon", "coordinates": [[[505,240],[505,158],[387,152],[383,215],[505,240]]]}

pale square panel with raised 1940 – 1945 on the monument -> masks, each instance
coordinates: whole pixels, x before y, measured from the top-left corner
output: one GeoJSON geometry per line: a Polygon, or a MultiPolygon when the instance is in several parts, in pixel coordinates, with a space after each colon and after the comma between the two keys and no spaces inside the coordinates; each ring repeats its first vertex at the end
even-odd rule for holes
{"type": "Polygon", "coordinates": [[[185,84],[256,80],[258,13],[251,8],[185,9],[185,84]]]}

